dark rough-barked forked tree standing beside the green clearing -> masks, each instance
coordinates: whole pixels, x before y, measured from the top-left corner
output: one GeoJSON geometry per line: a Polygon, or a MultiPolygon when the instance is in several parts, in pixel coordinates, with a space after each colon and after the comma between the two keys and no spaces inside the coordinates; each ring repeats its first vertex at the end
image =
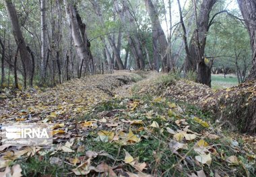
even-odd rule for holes
{"type": "Polygon", "coordinates": [[[197,6],[195,0],[193,0],[196,28],[189,43],[189,55],[185,59],[185,73],[197,71],[197,81],[209,86],[211,86],[212,63],[209,63],[209,65],[205,63],[205,44],[207,32],[211,25],[211,23],[209,24],[210,12],[216,1],[203,0],[197,16],[197,6]]]}

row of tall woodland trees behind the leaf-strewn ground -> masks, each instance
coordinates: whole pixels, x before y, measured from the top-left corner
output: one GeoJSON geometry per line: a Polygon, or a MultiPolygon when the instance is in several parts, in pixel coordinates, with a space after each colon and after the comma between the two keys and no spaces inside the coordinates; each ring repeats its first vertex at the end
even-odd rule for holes
{"type": "Polygon", "coordinates": [[[230,66],[242,82],[251,51],[248,79],[255,79],[256,3],[238,0],[244,20],[227,5],[223,0],[5,0],[1,87],[11,82],[19,87],[19,81],[24,87],[33,81],[55,85],[113,69],[195,72],[197,81],[210,86],[211,71],[222,67],[225,73],[230,66]]]}

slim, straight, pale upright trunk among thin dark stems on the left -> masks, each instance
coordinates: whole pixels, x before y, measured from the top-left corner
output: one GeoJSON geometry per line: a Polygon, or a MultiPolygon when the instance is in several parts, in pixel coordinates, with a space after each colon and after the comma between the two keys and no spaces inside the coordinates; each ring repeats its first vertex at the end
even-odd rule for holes
{"type": "Polygon", "coordinates": [[[40,13],[41,13],[41,63],[40,63],[40,77],[41,83],[45,82],[46,76],[46,35],[47,35],[47,23],[46,23],[46,1],[40,0],[40,13]]]}

